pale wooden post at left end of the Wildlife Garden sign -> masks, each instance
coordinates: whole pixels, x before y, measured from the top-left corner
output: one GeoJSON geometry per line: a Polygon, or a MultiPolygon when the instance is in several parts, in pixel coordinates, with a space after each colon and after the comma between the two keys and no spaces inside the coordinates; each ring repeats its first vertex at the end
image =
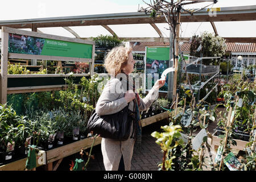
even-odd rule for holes
{"type": "Polygon", "coordinates": [[[1,44],[1,104],[7,102],[7,69],[8,69],[8,43],[9,34],[2,27],[2,44],[1,44]]]}

